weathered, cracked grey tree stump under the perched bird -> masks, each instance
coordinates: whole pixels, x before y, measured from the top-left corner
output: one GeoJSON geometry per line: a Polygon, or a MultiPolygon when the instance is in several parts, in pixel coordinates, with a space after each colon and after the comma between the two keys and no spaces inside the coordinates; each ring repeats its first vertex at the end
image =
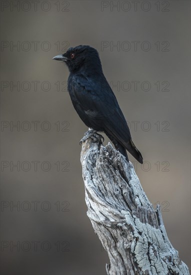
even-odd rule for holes
{"type": "Polygon", "coordinates": [[[81,164],[87,215],[110,260],[107,274],[188,275],[132,163],[96,137],[82,142],[81,164]]]}

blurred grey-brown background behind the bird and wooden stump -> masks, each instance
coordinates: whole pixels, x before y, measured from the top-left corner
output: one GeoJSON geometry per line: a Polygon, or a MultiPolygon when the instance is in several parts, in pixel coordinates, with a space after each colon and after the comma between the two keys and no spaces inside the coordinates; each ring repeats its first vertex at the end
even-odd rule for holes
{"type": "Polygon", "coordinates": [[[1,1],[0,20],[1,274],[106,273],[84,201],[87,128],[51,59],[78,44],[117,85],[146,161],[137,175],[190,268],[190,1],[1,1]]]}

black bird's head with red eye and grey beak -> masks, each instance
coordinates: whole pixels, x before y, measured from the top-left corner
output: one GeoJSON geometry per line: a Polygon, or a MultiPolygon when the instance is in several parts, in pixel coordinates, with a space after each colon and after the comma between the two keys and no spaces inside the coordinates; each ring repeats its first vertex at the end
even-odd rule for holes
{"type": "Polygon", "coordinates": [[[88,45],[70,47],[65,53],[56,55],[52,59],[65,62],[70,72],[93,67],[102,71],[97,50],[88,45]]]}

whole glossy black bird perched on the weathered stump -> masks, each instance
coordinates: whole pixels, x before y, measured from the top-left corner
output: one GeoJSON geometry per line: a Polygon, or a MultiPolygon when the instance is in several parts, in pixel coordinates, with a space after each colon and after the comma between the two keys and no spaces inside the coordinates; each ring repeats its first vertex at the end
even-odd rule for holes
{"type": "Polygon", "coordinates": [[[85,125],[94,132],[104,132],[127,161],[126,150],[142,163],[141,153],[132,142],[124,115],[103,74],[97,50],[79,45],[53,59],[64,61],[69,69],[69,95],[85,125]]]}

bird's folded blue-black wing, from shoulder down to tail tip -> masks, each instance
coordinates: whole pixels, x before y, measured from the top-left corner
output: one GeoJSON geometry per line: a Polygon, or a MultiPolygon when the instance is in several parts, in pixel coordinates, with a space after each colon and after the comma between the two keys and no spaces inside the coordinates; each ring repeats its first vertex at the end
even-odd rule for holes
{"type": "Polygon", "coordinates": [[[71,99],[73,97],[76,100],[78,114],[80,112],[86,120],[89,119],[90,126],[95,130],[103,129],[112,135],[140,161],[142,156],[132,142],[126,120],[104,76],[96,81],[82,74],[74,75],[70,80],[69,89],[72,93],[71,99]]]}

